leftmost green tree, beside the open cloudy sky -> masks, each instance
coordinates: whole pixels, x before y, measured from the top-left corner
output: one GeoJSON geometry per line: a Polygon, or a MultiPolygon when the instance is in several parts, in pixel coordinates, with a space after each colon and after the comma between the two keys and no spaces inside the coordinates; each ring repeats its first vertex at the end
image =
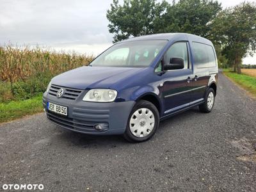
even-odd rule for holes
{"type": "Polygon", "coordinates": [[[130,36],[140,36],[156,33],[155,20],[161,20],[168,3],[156,0],[124,0],[121,6],[118,0],[113,0],[107,12],[109,32],[115,34],[113,42],[118,42],[130,36]]]}

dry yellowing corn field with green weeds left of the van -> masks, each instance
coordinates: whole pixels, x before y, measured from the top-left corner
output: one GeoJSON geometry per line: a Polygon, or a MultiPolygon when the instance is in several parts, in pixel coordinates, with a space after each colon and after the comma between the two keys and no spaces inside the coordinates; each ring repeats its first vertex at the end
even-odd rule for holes
{"type": "Polygon", "coordinates": [[[40,47],[0,47],[0,102],[30,99],[44,92],[52,77],[92,60],[92,55],[40,47]]]}

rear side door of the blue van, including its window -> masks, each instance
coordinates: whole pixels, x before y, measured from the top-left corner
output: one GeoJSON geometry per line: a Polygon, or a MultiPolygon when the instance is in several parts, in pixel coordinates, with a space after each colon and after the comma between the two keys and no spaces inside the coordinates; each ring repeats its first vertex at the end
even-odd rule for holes
{"type": "Polygon", "coordinates": [[[193,47],[193,92],[191,95],[191,104],[204,100],[205,90],[207,89],[209,70],[216,67],[216,56],[211,45],[192,42],[193,47]]]}

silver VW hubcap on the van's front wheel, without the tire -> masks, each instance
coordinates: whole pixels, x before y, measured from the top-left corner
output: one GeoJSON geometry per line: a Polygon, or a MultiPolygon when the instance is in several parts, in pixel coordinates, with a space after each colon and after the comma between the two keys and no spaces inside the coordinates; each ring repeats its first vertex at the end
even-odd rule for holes
{"type": "Polygon", "coordinates": [[[129,125],[130,131],[134,136],[143,138],[154,129],[154,113],[147,108],[138,109],[132,113],[129,125]]]}

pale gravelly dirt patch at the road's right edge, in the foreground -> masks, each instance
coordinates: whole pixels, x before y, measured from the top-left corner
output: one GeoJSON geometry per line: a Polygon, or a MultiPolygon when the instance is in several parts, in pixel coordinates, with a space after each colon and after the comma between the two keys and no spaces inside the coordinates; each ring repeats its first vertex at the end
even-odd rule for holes
{"type": "Polygon", "coordinates": [[[237,156],[238,160],[256,163],[256,140],[251,141],[247,138],[235,138],[230,143],[233,147],[238,148],[241,153],[237,156]]]}

